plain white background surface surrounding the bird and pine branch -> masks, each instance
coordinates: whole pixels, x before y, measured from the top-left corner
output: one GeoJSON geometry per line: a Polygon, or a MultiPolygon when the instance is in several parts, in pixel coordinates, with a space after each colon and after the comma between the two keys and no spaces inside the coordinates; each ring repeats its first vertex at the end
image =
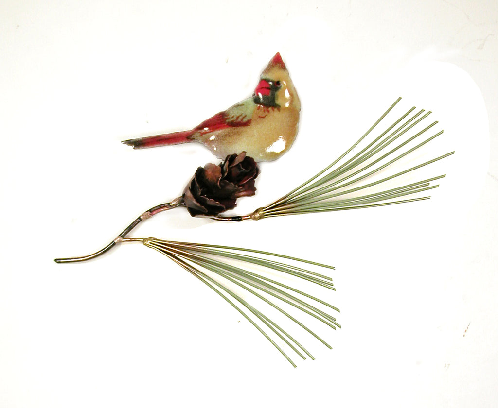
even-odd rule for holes
{"type": "Polygon", "coordinates": [[[495,0],[3,1],[0,21],[1,408],[496,406],[495,0]],[[297,369],[148,248],[53,262],[218,162],[198,144],[121,140],[248,97],[277,51],[300,132],[239,213],[328,165],[398,96],[445,129],[428,158],[457,152],[429,201],[241,224],[176,209],[133,233],[334,265],[343,328],[297,369]]]}

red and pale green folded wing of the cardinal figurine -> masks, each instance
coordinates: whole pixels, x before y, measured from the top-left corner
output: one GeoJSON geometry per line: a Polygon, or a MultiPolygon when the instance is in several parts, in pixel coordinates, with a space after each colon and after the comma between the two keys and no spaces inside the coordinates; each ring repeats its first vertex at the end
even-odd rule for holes
{"type": "Polygon", "coordinates": [[[193,130],[203,134],[229,127],[248,126],[254,112],[252,99],[237,103],[223,112],[218,112],[209,119],[197,125],[193,130]]]}

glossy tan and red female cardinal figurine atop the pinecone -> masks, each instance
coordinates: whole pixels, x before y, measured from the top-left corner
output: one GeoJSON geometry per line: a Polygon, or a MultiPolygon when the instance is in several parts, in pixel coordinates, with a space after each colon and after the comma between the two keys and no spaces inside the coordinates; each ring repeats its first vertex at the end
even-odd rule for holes
{"type": "Polygon", "coordinates": [[[245,151],[256,162],[275,160],[296,138],[301,102],[279,53],[262,72],[254,94],[192,130],[124,140],[133,149],[199,142],[220,159],[245,151]]]}

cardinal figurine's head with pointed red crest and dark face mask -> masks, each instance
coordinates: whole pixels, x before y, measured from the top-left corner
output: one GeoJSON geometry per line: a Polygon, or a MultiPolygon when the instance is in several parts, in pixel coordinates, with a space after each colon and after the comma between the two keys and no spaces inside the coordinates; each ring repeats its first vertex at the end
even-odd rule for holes
{"type": "Polygon", "coordinates": [[[294,84],[278,52],[261,73],[252,99],[263,106],[301,109],[294,84]]]}

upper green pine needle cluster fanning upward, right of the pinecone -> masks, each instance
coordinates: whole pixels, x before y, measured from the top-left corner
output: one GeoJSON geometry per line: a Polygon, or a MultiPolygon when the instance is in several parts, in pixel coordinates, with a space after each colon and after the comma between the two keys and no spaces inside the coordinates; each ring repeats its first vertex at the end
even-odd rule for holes
{"type": "Polygon", "coordinates": [[[443,130],[440,130],[419,141],[421,136],[426,137],[427,133],[433,131],[431,129],[438,123],[437,121],[425,123],[431,114],[430,111],[425,112],[424,109],[420,109],[414,112],[415,107],[412,107],[388,125],[371,142],[362,147],[362,144],[367,143],[367,136],[371,135],[377,126],[387,121],[386,116],[400,100],[401,98],[398,98],[373,126],[339,158],[285,196],[272,204],[258,208],[250,215],[242,217],[222,215],[214,219],[240,221],[249,218],[261,219],[310,212],[368,208],[429,199],[429,196],[421,196],[420,193],[437,188],[438,185],[431,183],[444,178],[444,174],[425,180],[400,183],[396,187],[389,185],[389,188],[387,188],[387,182],[395,181],[395,179],[401,178],[401,176],[405,176],[408,173],[455,153],[450,152],[408,169],[396,171],[395,166],[399,166],[398,161],[417,151],[443,133],[443,130]],[[361,150],[356,152],[359,149],[361,150]],[[396,172],[389,174],[388,172],[392,172],[391,169],[396,172]],[[373,179],[372,181],[372,178],[380,174],[386,174],[386,176],[380,180],[373,179]],[[369,179],[371,181],[367,182],[369,179]],[[371,188],[373,190],[367,193],[366,190],[371,188]],[[358,192],[362,191],[365,191],[365,193],[358,195],[358,192]]]}

